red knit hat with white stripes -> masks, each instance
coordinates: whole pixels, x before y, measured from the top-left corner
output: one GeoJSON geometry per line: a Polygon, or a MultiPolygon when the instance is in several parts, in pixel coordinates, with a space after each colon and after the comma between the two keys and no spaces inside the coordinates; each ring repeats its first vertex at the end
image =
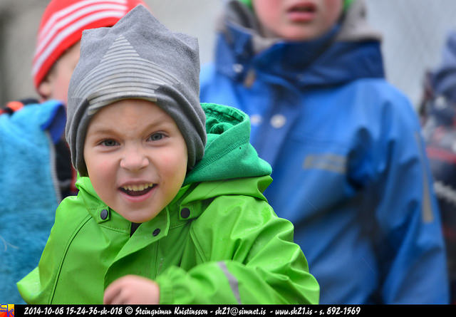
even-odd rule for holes
{"type": "Polygon", "coordinates": [[[83,30],[113,26],[142,0],[51,0],[41,17],[33,56],[35,88],[58,58],[81,40],[83,30]]]}

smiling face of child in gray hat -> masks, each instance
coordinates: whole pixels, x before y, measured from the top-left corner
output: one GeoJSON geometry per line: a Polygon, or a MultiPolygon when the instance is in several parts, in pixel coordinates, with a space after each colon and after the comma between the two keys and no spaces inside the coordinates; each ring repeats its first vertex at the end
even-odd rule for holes
{"type": "Polygon", "coordinates": [[[120,100],[98,110],[84,143],[100,199],[130,222],[147,222],[169,204],[187,172],[187,145],[155,103],[120,100]]]}

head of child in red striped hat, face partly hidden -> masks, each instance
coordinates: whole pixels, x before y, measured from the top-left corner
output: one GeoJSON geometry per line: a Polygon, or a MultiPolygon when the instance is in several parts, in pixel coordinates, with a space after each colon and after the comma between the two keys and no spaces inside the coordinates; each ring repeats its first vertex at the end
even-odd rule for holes
{"type": "Polygon", "coordinates": [[[79,57],[83,30],[113,26],[141,0],[54,0],[38,28],[33,84],[45,100],[66,102],[68,84],[79,57]]]}

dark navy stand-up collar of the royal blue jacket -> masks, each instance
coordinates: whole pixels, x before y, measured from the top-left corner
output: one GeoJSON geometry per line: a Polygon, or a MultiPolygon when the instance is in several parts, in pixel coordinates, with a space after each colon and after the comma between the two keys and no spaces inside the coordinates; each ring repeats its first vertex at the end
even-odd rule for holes
{"type": "Polygon", "coordinates": [[[279,41],[256,55],[252,33],[235,24],[227,24],[218,37],[217,69],[242,81],[249,69],[254,68],[271,80],[284,78],[300,88],[385,76],[379,41],[333,41],[337,31],[338,28],[333,28],[316,41],[279,41]]]}

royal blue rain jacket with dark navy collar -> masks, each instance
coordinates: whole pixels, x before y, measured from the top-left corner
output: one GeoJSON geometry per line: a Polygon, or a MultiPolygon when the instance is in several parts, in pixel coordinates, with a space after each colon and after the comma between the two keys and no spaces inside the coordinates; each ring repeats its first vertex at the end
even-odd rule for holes
{"type": "Polygon", "coordinates": [[[241,17],[224,19],[200,98],[250,115],[252,144],[273,168],[266,198],[294,223],[320,303],[447,303],[420,125],[384,79],[378,38],[350,28],[361,6],[315,41],[256,52],[254,24],[231,1],[226,16],[241,17]]]}

